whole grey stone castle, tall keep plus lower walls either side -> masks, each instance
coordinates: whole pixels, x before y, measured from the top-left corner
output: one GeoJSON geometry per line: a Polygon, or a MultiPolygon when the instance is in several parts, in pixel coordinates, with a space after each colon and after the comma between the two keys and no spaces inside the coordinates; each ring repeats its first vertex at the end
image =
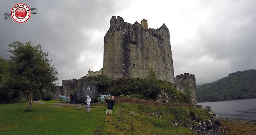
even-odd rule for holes
{"type": "MultiPolygon", "coordinates": [[[[103,68],[100,71],[88,71],[87,76],[105,74],[112,79],[119,77],[147,77],[148,69],[156,71],[156,77],[170,81],[178,91],[184,92],[184,86],[190,85],[191,102],[196,104],[195,75],[184,73],[174,78],[170,32],[165,24],[158,29],[148,28],[147,20],[130,24],[119,16],[112,16],[110,29],[104,37],[103,68]],[[189,84],[187,82],[189,81],[189,84]]],[[[86,95],[96,102],[100,94],[98,83],[80,79],[62,80],[56,95],[69,95],[76,89],[78,101],[84,103],[86,95]]]]}

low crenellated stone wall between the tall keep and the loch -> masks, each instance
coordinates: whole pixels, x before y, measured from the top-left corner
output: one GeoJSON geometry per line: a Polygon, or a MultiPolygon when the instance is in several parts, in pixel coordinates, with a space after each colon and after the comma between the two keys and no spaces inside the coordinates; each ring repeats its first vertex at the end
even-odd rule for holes
{"type": "Polygon", "coordinates": [[[191,90],[191,94],[192,94],[192,103],[197,104],[196,101],[196,75],[193,75],[191,73],[184,73],[181,75],[176,75],[175,77],[175,88],[178,91],[184,92],[184,81],[185,80],[189,80],[190,81],[190,90],[191,90]]]}

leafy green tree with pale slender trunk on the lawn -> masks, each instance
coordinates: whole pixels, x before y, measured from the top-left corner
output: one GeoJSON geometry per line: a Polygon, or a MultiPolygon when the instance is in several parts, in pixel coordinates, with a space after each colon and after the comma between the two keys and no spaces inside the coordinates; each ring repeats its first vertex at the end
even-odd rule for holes
{"type": "Polygon", "coordinates": [[[2,77],[1,81],[2,85],[11,84],[14,89],[24,93],[28,110],[31,109],[33,93],[54,91],[58,80],[58,71],[51,66],[48,52],[43,52],[41,47],[41,44],[32,46],[30,41],[10,44],[11,77],[2,77]]]}

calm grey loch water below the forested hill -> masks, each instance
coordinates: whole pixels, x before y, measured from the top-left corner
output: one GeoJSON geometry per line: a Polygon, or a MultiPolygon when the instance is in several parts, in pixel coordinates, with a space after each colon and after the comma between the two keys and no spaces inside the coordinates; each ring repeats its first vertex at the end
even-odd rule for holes
{"type": "Polygon", "coordinates": [[[212,111],[220,118],[252,119],[256,120],[256,98],[233,101],[197,103],[212,107],[212,111]]]}

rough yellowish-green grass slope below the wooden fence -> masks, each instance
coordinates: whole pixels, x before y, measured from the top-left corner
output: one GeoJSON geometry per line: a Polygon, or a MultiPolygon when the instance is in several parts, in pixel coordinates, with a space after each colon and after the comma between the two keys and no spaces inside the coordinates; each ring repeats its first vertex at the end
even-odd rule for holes
{"type": "Polygon", "coordinates": [[[202,109],[186,107],[152,107],[124,103],[114,106],[114,121],[106,125],[106,133],[116,135],[196,135],[195,131],[185,128],[185,125],[193,124],[191,113],[206,118],[202,109]],[[134,111],[134,115],[131,115],[134,111]],[[161,118],[151,115],[160,112],[161,118]],[[180,125],[174,127],[174,121],[180,125]]]}

